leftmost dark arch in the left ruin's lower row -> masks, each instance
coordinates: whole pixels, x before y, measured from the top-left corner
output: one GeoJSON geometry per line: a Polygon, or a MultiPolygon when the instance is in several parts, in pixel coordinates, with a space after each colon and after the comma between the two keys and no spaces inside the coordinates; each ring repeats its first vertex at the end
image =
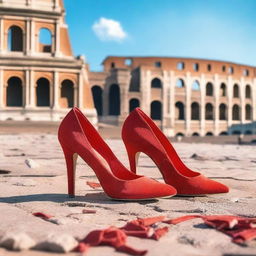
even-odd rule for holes
{"type": "Polygon", "coordinates": [[[11,77],[7,82],[7,107],[22,107],[22,81],[18,77],[11,77]]]}

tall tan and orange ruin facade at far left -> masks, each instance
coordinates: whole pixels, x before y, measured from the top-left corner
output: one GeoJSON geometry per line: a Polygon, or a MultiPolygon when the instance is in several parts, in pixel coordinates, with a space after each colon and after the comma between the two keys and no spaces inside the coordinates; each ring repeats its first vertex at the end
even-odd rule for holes
{"type": "Polygon", "coordinates": [[[60,120],[73,106],[97,121],[63,1],[0,0],[0,120],[60,120]]]}

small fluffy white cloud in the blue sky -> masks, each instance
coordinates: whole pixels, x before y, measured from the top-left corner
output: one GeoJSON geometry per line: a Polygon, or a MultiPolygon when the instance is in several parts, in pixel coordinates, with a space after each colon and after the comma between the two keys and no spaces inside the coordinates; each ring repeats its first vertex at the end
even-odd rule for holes
{"type": "Polygon", "coordinates": [[[127,37],[127,33],[124,31],[119,21],[103,17],[93,24],[92,29],[102,41],[121,42],[127,37]]]}

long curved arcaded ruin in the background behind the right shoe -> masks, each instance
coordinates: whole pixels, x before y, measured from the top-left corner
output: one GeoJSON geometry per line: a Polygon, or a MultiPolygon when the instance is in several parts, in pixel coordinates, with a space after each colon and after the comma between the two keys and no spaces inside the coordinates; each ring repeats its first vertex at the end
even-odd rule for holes
{"type": "Polygon", "coordinates": [[[121,123],[139,106],[168,136],[226,135],[256,120],[255,67],[162,57],[107,57],[103,65],[89,74],[101,120],[121,123]]]}

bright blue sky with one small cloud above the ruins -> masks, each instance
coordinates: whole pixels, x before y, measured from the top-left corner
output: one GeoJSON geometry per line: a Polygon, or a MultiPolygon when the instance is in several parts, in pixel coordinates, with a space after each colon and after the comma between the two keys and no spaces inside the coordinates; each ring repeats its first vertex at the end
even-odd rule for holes
{"type": "Polygon", "coordinates": [[[75,55],[211,58],[256,66],[256,0],[64,0],[75,55]]]}

